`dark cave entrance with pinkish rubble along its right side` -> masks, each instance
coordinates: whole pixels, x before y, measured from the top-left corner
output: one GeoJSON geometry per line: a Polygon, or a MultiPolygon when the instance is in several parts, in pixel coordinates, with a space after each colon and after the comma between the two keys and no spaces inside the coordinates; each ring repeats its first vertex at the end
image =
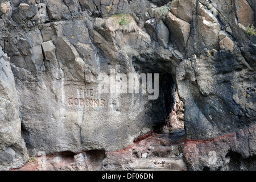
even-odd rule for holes
{"type": "MultiPolygon", "coordinates": [[[[138,74],[158,73],[159,74],[159,100],[152,100],[152,105],[159,106],[159,102],[164,100],[166,117],[159,121],[159,125],[154,127],[156,133],[169,133],[175,130],[184,130],[184,104],[179,99],[174,78],[171,74],[172,65],[170,61],[148,60],[135,57],[133,65],[138,74]]],[[[155,108],[156,110],[158,108],[155,108]]],[[[159,118],[161,119],[161,118],[159,118]]]]}

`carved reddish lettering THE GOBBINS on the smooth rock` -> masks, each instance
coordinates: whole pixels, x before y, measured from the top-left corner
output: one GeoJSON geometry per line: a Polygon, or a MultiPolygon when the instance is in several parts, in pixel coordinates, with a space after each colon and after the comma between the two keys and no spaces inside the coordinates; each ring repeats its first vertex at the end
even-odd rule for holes
{"type": "Polygon", "coordinates": [[[68,98],[68,106],[85,106],[85,107],[105,107],[105,100],[92,98],[94,89],[77,89],[76,97],[68,98]]]}

